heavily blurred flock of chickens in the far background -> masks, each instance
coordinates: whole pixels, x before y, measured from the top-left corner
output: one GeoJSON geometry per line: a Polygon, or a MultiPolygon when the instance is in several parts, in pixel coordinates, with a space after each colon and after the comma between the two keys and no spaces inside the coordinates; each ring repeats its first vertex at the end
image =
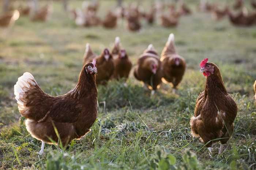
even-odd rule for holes
{"type": "MultiPolygon", "coordinates": [[[[71,17],[79,26],[91,27],[102,25],[105,28],[115,28],[118,19],[127,20],[127,28],[130,31],[138,31],[142,27],[141,19],[146,19],[148,24],[153,24],[156,19],[160,19],[163,27],[175,27],[181,16],[190,15],[192,10],[183,1],[176,4],[165,4],[157,1],[152,4],[149,11],[146,12],[138,4],[131,4],[128,7],[117,7],[114,10],[109,10],[104,19],[97,16],[99,2],[93,1],[88,3],[84,1],[82,8],[68,9],[71,17]],[[178,6],[176,8],[176,6],[178,6]],[[167,8],[167,10],[166,10],[167,8]]],[[[252,8],[256,9],[256,1],[251,1],[252,8]]],[[[199,11],[211,12],[214,20],[221,20],[224,16],[229,16],[229,20],[235,26],[252,26],[256,24],[256,11],[248,12],[244,7],[244,0],[236,0],[233,9],[239,12],[232,12],[230,7],[219,7],[218,4],[210,4],[202,0],[199,4],[199,11]],[[223,8],[223,9],[222,9],[223,8]]],[[[38,8],[36,5],[29,5],[27,7],[19,6],[18,10],[9,11],[0,16],[0,26],[9,26],[17,20],[17,12],[21,15],[30,15],[32,21],[46,21],[52,11],[51,5],[45,5],[38,8]],[[10,24],[9,24],[10,23],[10,24]]]]}

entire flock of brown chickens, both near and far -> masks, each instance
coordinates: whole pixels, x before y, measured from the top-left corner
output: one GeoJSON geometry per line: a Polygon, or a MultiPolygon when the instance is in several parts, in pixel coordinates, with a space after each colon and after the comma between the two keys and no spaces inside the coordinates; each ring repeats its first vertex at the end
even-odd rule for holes
{"type": "MultiPolygon", "coordinates": [[[[243,0],[237,0],[234,7],[241,9],[242,4],[243,0]]],[[[256,3],[252,2],[252,5],[256,8],[256,3]]],[[[96,15],[97,3],[87,5],[85,10],[72,10],[71,12],[79,25],[102,24],[106,28],[113,28],[117,25],[118,17],[122,17],[127,19],[129,30],[136,31],[141,27],[141,17],[146,18],[148,23],[153,23],[155,14],[158,15],[159,10],[162,11],[165,6],[167,5],[153,6],[149,13],[141,12],[138,6],[130,6],[126,9],[121,7],[118,13],[109,11],[103,21],[96,15]]],[[[160,13],[164,27],[176,26],[181,15],[191,13],[184,3],[178,10],[174,5],[168,8],[167,15],[160,13]]],[[[243,10],[238,15],[234,15],[228,7],[222,11],[217,5],[203,1],[200,4],[200,10],[212,12],[217,20],[228,15],[230,21],[239,26],[251,26],[256,23],[256,12],[248,14],[243,10]]],[[[30,13],[31,20],[45,21],[49,12],[48,5],[35,11],[32,10],[32,14],[30,8],[20,7],[19,11],[15,10],[0,17],[0,26],[13,24],[20,14],[29,15],[30,13]]],[[[144,86],[151,90],[151,95],[154,95],[162,81],[172,84],[175,91],[186,68],[185,59],[176,51],[173,34],[170,34],[160,56],[154,46],[149,45],[140,55],[133,69],[126,50],[121,47],[119,37],[116,37],[111,51],[105,48],[100,55],[93,53],[87,43],[83,63],[77,85],[62,96],[53,97],[44,93],[32,74],[27,72],[18,78],[14,86],[15,99],[20,114],[26,117],[27,130],[34,138],[42,141],[40,155],[44,152],[45,143],[61,141],[67,145],[71,140],[80,139],[90,132],[90,127],[97,119],[97,85],[106,85],[110,79],[126,80],[132,70],[134,77],[144,82],[144,86]],[[56,135],[54,127],[59,135],[56,135]]],[[[217,65],[208,62],[208,58],[203,59],[200,62],[200,72],[206,77],[206,85],[205,90],[196,100],[194,116],[190,120],[191,132],[193,136],[200,137],[210,153],[212,143],[220,141],[219,154],[221,154],[223,144],[229,140],[234,131],[237,105],[227,93],[217,65]]],[[[256,81],[254,90],[256,92],[256,81]]]]}

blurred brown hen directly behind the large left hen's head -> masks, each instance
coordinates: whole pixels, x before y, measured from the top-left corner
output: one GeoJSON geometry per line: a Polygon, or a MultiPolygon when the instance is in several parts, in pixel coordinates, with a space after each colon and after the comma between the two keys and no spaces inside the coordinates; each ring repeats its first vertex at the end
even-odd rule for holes
{"type": "Polygon", "coordinates": [[[91,49],[87,49],[87,47],[90,47],[90,45],[86,46],[84,62],[91,62],[93,59],[97,59],[97,68],[99,73],[97,74],[96,84],[105,85],[114,72],[113,57],[109,53],[108,49],[104,49],[101,55],[97,56],[91,52],[91,49]]]}

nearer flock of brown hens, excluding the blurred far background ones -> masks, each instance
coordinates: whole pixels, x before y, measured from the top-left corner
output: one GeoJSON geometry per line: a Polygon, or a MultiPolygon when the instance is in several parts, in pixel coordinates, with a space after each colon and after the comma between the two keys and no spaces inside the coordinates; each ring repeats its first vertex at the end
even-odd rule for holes
{"type": "MultiPolygon", "coordinates": [[[[112,51],[106,48],[100,55],[94,54],[87,44],[83,61],[77,85],[62,96],[44,93],[32,74],[27,72],[14,85],[19,112],[26,117],[26,128],[34,138],[42,141],[39,155],[44,152],[45,143],[61,141],[66,146],[71,140],[80,139],[90,132],[97,119],[97,84],[106,85],[111,78],[127,79],[132,68],[118,37],[112,51]]],[[[175,89],[185,67],[184,58],[174,47],[174,35],[170,34],[161,57],[153,45],[149,45],[140,55],[133,75],[152,89],[153,95],[162,79],[172,83],[175,89]]],[[[206,85],[196,100],[194,116],[190,120],[191,132],[194,137],[200,137],[210,153],[212,143],[220,141],[221,154],[224,144],[233,134],[238,108],[227,93],[217,65],[205,58],[200,62],[200,73],[206,77],[206,85]]],[[[256,81],[254,90],[256,92],[256,81]]]]}

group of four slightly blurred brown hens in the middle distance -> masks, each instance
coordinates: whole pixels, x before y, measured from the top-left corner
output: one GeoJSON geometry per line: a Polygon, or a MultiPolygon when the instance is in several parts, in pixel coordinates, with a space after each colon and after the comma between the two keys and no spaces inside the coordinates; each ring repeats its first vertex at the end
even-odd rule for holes
{"type": "MultiPolygon", "coordinates": [[[[116,37],[111,53],[106,48],[100,55],[94,54],[87,43],[83,63],[91,62],[93,59],[97,59],[96,84],[106,84],[111,78],[127,79],[132,69],[132,63],[126,51],[121,48],[119,37],[116,37]]],[[[185,59],[176,53],[174,35],[170,34],[161,57],[154,46],[149,45],[140,55],[137,65],[133,69],[133,75],[139,81],[143,81],[145,87],[151,89],[151,94],[154,94],[162,79],[172,83],[173,88],[176,89],[182,80],[185,68],[185,59]]]]}

